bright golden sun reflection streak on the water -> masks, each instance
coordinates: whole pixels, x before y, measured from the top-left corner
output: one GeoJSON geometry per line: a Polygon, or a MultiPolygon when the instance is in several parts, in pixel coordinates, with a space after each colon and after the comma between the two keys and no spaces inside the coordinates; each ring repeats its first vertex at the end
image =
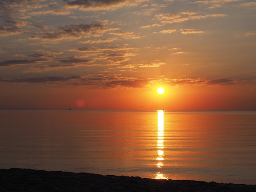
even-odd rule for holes
{"type": "MultiPolygon", "coordinates": [[[[164,111],[157,111],[157,167],[161,169],[164,166],[164,111]]],[[[155,179],[168,179],[160,170],[155,174],[155,179]]]]}

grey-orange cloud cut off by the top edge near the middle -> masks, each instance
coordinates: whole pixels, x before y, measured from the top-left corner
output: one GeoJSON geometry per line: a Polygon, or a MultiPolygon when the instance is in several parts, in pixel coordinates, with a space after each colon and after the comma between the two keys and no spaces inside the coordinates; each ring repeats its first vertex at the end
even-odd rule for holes
{"type": "Polygon", "coordinates": [[[83,11],[115,10],[124,6],[136,6],[147,0],[63,0],[67,8],[83,11]]]}

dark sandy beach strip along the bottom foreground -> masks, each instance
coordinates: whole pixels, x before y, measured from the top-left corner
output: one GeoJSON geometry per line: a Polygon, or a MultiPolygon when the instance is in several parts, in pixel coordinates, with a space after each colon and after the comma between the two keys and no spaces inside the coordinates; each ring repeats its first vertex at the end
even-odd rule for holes
{"type": "Polygon", "coordinates": [[[0,191],[16,192],[256,192],[256,185],[31,169],[0,169],[0,191]]]}

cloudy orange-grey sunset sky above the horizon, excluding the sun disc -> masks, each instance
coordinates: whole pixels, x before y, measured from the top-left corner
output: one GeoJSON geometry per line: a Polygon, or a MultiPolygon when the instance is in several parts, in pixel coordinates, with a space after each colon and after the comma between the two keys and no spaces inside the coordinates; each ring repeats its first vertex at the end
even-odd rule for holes
{"type": "Polygon", "coordinates": [[[1,0],[0,110],[69,108],[256,110],[256,2],[1,0]]]}

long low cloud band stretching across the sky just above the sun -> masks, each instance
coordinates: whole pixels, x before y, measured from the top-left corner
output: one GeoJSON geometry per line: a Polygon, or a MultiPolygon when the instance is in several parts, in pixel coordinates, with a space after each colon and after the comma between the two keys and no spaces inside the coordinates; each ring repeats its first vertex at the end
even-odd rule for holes
{"type": "MultiPolygon", "coordinates": [[[[57,66],[57,65],[56,65],[57,66]]],[[[56,67],[55,66],[55,67],[56,67]]],[[[132,68],[132,65],[126,65],[132,68]]],[[[119,67],[123,68],[123,67],[119,67]]],[[[52,84],[52,85],[93,85],[94,87],[101,87],[106,89],[112,88],[142,88],[148,87],[150,85],[156,85],[158,83],[169,85],[169,86],[228,86],[234,84],[248,83],[255,81],[252,79],[217,79],[217,80],[207,80],[206,78],[148,78],[139,79],[128,76],[121,76],[117,74],[109,74],[109,71],[103,71],[103,74],[87,74],[83,76],[51,76],[51,77],[32,77],[32,78],[0,78],[0,82],[5,83],[39,83],[39,84],[52,84]],[[106,73],[106,74],[104,74],[106,73]]]]}

